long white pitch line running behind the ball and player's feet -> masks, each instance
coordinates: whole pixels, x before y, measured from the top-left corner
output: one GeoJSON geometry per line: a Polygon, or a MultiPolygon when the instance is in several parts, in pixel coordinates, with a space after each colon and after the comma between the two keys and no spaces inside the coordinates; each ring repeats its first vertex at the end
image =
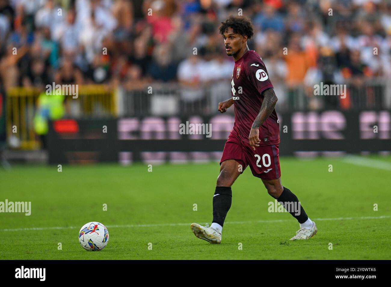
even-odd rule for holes
{"type": "MultiPolygon", "coordinates": [[[[391,218],[391,215],[384,216],[362,216],[362,217],[336,217],[336,218],[315,218],[314,221],[330,221],[330,220],[360,220],[360,219],[383,219],[391,218]]],[[[225,224],[246,224],[246,223],[274,223],[274,222],[287,222],[292,219],[281,220],[258,220],[258,221],[228,221],[225,224]]],[[[203,222],[203,221],[199,221],[203,222]]],[[[156,227],[156,226],[190,226],[190,223],[162,223],[162,224],[129,224],[129,225],[107,225],[107,228],[132,228],[132,227],[156,227]]],[[[14,229],[2,229],[0,231],[26,231],[26,230],[57,230],[57,229],[79,229],[75,226],[53,226],[53,227],[29,227],[29,228],[14,228],[14,229]]]]}

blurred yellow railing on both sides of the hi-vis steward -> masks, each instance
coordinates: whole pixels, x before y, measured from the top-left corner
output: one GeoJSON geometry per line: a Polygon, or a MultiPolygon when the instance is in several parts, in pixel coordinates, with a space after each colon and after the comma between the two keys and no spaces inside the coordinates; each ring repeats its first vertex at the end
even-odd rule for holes
{"type": "MultiPolygon", "coordinates": [[[[42,91],[27,87],[7,90],[6,132],[12,148],[32,150],[41,147],[41,140],[34,132],[34,114],[39,94],[42,91]]],[[[45,91],[44,91],[45,92],[45,91]]],[[[66,116],[111,117],[117,116],[116,93],[108,86],[78,86],[77,98],[65,96],[66,116]]]]}

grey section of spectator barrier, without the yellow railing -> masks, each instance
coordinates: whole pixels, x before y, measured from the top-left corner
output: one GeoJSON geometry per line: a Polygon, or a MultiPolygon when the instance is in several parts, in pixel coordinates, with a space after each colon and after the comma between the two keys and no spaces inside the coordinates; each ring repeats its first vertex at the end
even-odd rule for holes
{"type": "MultiPolygon", "coordinates": [[[[330,84],[332,85],[332,84],[330,84]]],[[[169,116],[179,114],[211,115],[217,112],[219,102],[231,97],[228,80],[217,81],[199,87],[184,87],[180,84],[151,83],[142,90],[121,90],[120,116],[169,116]]],[[[274,83],[278,112],[342,109],[391,108],[391,81],[384,78],[367,78],[361,86],[346,82],[346,98],[340,95],[315,95],[314,87],[289,87],[283,82],[274,83]]],[[[228,110],[231,112],[231,109],[228,110]]]]}

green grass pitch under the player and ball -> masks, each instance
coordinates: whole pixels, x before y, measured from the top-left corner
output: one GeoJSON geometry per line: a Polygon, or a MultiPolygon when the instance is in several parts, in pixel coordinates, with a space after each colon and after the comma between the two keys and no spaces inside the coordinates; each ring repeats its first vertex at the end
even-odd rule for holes
{"type": "Polygon", "coordinates": [[[0,259],[391,259],[391,157],[353,159],[280,159],[283,185],[317,223],[317,235],[301,241],[288,240],[296,219],[269,213],[274,199],[246,169],[233,184],[220,245],[190,230],[192,222],[211,224],[216,162],[152,172],[146,164],[0,169],[0,201],[31,201],[30,216],[0,213],[0,259]],[[102,251],[79,244],[90,221],[108,227],[102,251]]]}

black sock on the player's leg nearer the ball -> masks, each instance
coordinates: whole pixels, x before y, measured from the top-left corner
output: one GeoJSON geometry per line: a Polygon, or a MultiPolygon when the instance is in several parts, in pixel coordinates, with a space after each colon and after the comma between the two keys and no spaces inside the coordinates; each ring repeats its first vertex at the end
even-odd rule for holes
{"type": "Polygon", "coordinates": [[[231,187],[216,186],[213,196],[213,222],[223,226],[232,203],[231,187]],[[217,195],[218,194],[218,195],[217,195]]]}

